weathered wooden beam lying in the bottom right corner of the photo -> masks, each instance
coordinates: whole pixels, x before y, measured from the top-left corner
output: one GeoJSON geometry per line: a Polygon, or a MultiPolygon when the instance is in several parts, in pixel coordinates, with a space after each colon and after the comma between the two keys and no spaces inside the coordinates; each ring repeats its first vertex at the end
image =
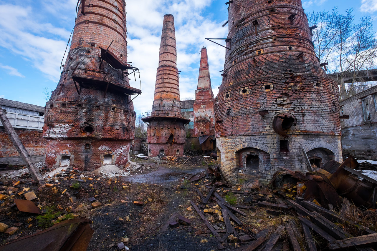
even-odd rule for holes
{"type": "Polygon", "coordinates": [[[377,245],[377,234],[368,234],[359,237],[353,237],[345,240],[334,240],[329,242],[330,250],[344,249],[344,248],[358,248],[362,246],[377,245]]]}

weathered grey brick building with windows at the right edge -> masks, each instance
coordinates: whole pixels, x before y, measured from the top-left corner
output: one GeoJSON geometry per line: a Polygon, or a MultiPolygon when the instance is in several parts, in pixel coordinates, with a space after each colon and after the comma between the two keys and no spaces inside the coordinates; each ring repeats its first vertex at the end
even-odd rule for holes
{"type": "Polygon", "coordinates": [[[343,153],[377,161],[377,86],[340,102],[343,153]]]}

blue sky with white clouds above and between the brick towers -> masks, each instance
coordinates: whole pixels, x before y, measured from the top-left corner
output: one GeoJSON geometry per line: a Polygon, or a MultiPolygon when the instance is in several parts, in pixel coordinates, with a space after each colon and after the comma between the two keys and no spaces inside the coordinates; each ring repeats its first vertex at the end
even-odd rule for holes
{"type": "MultiPolygon", "coordinates": [[[[214,94],[221,84],[225,49],[206,37],[226,37],[225,0],[127,0],[128,61],[139,67],[143,93],[134,100],[137,113],[150,110],[158,66],[163,15],[175,16],[181,99],[194,98],[199,52],[208,49],[214,94]]],[[[0,97],[44,106],[43,89],[54,90],[59,66],[74,26],[77,0],[0,0],[0,97]]],[[[303,1],[305,12],[354,8],[356,19],[374,18],[377,0],[303,1]]],[[[64,63],[64,62],[63,62],[64,63]]],[[[138,80],[139,81],[139,80],[138,80]]],[[[138,87],[139,82],[130,82],[138,87]]]]}

